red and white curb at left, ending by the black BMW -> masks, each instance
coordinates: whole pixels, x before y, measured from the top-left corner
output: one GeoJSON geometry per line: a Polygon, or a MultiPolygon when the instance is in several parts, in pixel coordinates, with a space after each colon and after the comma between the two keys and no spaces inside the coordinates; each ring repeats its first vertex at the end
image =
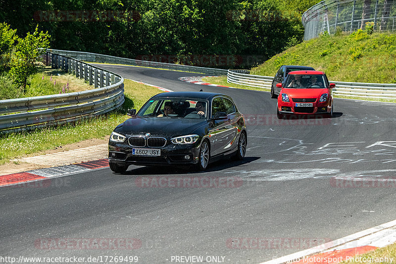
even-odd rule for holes
{"type": "MultiPolygon", "coordinates": [[[[90,162],[83,162],[72,165],[65,165],[59,167],[52,167],[46,169],[38,169],[27,171],[23,173],[14,173],[9,175],[0,176],[0,187],[12,186],[22,183],[30,183],[33,181],[45,180],[47,178],[55,178],[67,175],[82,173],[85,171],[103,169],[108,167],[108,160],[101,159],[90,162]]],[[[48,182],[46,182],[48,184],[48,182]]],[[[21,185],[26,187],[45,187],[46,184],[26,184],[21,185]]]]}

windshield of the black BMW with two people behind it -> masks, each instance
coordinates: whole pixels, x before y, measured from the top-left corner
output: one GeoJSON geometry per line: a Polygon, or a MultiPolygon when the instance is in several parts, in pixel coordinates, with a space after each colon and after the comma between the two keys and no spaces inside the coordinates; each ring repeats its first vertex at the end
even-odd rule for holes
{"type": "Polygon", "coordinates": [[[138,117],[206,119],[208,102],[197,98],[158,98],[149,100],[138,117]]]}

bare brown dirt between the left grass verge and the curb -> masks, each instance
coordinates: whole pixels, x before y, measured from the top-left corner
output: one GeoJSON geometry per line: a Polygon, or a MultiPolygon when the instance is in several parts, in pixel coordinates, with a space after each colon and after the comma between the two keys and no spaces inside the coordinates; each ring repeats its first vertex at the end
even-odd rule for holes
{"type": "MultiPolygon", "coordinates": [[[[27,157],[59,153],[59,152],[68,151],[68,150],[74,150],[74,149],[79,149],[79,148],[84,148],[84,147],[91,147],[91,146],[96,146],[96,145],[101,145],[101,144],[107,144],[108,138],[109,138],[109,136],[107,136],[103,139],[99,139],[99,138],[87,139],[87,140],[80,141],[77,143],[58,146],[54,149],[41,151],[39,153],[30,154],[30,155],[27,155],[27,157]]],[[[21,173],[21,172],[26,172],[26,171],[35,170],[35,169],[49,168],[49,167],[50,166],[43,166],[43,165],[37,165],[37,164],[31,164],[31,163],[8,162],[3,165],[0,165],[0,176],[14,174],[14,173],[21,173]]]]}

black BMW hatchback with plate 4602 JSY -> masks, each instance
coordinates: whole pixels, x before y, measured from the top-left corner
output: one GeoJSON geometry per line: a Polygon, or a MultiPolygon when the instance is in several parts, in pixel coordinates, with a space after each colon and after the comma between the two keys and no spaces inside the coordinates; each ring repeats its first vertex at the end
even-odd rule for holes
{"type": "Polygon", "coordinates": [[[129,165],[194,165],[203,171],[215,157],[245,157],[245,120],[228,95],[164,92],[128,115],[109,139],[108,160],[115,173],[129,165]]]}

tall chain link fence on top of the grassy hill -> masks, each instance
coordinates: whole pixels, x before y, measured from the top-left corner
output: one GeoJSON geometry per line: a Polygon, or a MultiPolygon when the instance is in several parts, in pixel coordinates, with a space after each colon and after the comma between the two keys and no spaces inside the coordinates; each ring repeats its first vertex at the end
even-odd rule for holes
{"type": "Polygon", "coordinates": [[[327,31],[353,32],[372,23],[374,31],[396,31],[395,0],[324,0],[302,14],[304,41],[327,31]]]}

